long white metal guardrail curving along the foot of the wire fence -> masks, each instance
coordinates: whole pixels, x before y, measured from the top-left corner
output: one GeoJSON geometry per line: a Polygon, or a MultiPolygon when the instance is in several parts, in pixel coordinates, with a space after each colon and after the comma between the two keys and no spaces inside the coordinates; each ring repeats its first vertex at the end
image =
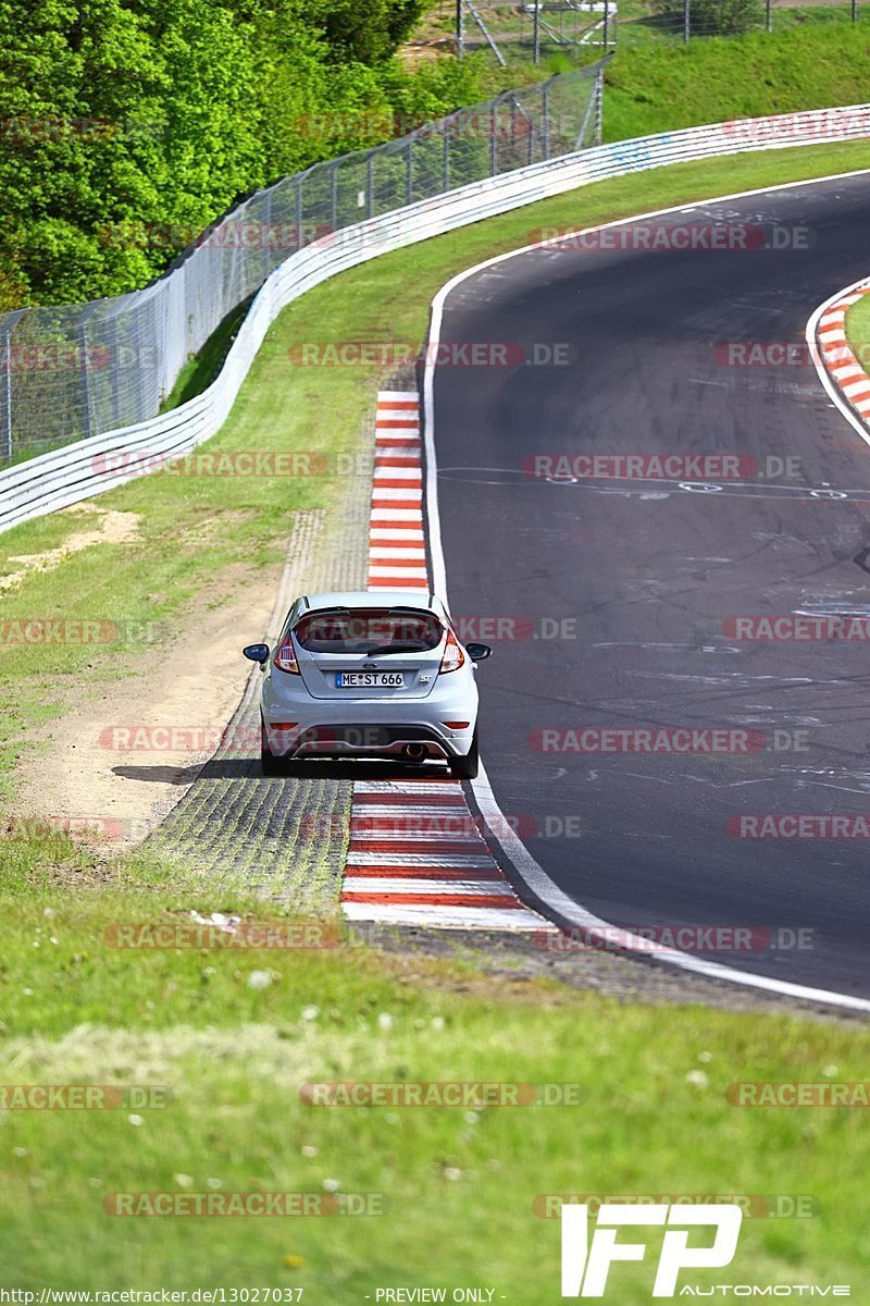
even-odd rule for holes
{"type": "Polygon", "coordinates": [[[716,154],[867,136],[870,104],[691,127],[565,154],[344,227],[291,255],[263,282],[220,374],[202,394],[147,422],[80,440],[0,471],[0,530],[100,494],[136,475],[106,471],[100,456],[136,449],[147,451],[155,460],[180,457],[213,436],[227,418],[280,310],[337,272],[590,182],[716,154]]]}

